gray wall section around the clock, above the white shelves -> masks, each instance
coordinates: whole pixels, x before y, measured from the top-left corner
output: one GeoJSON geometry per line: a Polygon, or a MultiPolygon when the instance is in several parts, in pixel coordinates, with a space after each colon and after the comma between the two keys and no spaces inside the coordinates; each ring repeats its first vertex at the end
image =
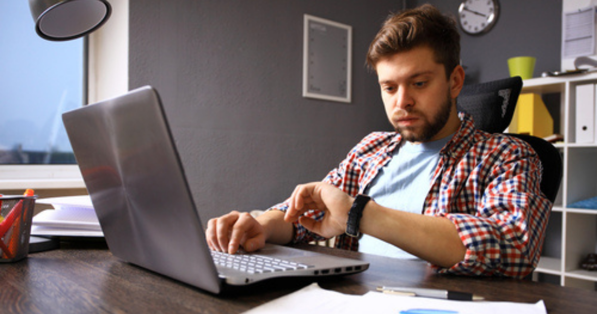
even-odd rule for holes
{"type": "MultiPolygon", "coordinates": [[[[429,2],[454,16],[457,16],[461,3],[460,0],[416,2],[429,2]]],[[[559,70],[562,0],[500,0],[499,3],[500,18],[490,32],[481,36],[461,32],[466,84],[509,76],[507,59],[516,56],[537,58],[534,76],[540,76],[544,71],[559,70]]]]}

